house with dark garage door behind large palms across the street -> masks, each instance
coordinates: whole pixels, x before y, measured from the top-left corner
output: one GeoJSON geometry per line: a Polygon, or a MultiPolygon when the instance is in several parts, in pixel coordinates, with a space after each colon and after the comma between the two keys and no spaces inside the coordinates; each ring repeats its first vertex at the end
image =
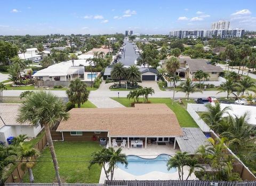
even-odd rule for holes
{"type": "MultiPolygon", "coordinates": [[[[111,70],[113,66],[109,66],[105,68],[103,79],[110,79],[111,78],[111,70]]],[[[125,66],[125,68],[128,68],[129,66],[125,66]]],[[[140,68],[139,70],[141,72],[141,80],[155,80],[157,81],[157,74],[158,71],[154,68],[140,68]]]]}

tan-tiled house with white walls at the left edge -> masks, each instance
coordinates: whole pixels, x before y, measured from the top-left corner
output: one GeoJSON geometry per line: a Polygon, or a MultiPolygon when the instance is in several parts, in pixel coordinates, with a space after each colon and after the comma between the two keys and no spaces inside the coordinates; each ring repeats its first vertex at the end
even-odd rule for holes
{"type": "Polygon", "coordinates": [[[30,123],[19,124],[18,118],[20,104],[2,103],[0,104],[0,142],[7,144],[7,138],[26,134],[35,138],[42,130],[40,124],[33,126],[30,123]]]}

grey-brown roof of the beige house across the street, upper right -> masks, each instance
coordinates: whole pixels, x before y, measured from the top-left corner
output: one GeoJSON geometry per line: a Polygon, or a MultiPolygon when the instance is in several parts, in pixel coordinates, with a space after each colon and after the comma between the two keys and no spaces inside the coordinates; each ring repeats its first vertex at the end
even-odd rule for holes
{"type": "Polygon", "coordinates": [[[179,59],[180,63],[187,62],[189,71],[196,72],[197,70],[203,70],[204,72],[222,72],[222,68],[207,64],[207,60],[204,59],[179,59]]]}

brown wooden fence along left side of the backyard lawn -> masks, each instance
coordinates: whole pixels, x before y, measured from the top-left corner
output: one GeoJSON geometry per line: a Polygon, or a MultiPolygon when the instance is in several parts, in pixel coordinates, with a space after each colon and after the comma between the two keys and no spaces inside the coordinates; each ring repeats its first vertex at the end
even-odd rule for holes
{"type": "MultiPolygon", "coordinates": [[[[46,134],[45,134],[43,138],[38,143],[35,144],[34,148],[37,149],[39,152],[41,152],[44,149],[46,143],[47,143],[47,140],[46,140],[46,134]]],[[[37,156],[31,157],[32,161],[35,161],[36,159],[37,159],[37,156]]],[[[26,171],[22,171],[21,164],[22,163],[18,164],[18,166],[14,169],[12,174],[7,178],[5,183],[19,183],[21,181],[23,175],[26,172],[26,171]]]]}

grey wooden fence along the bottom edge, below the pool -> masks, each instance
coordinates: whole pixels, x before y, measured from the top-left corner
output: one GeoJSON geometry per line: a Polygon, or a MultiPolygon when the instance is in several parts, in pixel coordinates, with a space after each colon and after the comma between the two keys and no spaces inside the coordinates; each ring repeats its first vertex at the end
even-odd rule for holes
{"type": "Polygon", "coordinates": [[[256,186],[251,182],[227,182],[227,181],[199,181],[199,180],[113,180],[105,181],[105,186],[256,186]]]}

